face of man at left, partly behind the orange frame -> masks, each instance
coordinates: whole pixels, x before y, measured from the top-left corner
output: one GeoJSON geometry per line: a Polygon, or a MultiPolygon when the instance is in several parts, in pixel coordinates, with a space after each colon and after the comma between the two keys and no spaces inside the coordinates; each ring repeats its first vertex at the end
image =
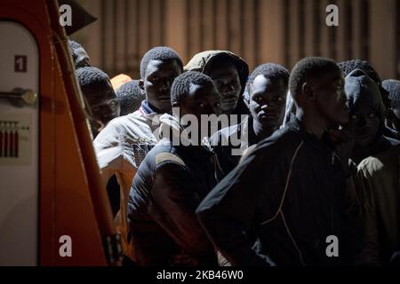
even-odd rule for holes
{"type": "Polygon", "coordinates": [[[85,88],[83,93],[96,120],[106,125],[119,116],[120,106],[111,83],[108,83],[108,86],[103,88],[85,88]]]}

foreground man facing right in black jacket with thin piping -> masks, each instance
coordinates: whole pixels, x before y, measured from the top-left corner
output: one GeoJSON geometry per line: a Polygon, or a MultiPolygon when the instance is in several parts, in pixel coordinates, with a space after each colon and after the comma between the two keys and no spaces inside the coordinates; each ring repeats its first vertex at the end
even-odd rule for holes
{"type": "Polygon", "coordinates": [[[197,209],[214,246],[234,265],[348,263],[343,215],[351,143],[332,130],[343,141],[335,154],[324,141],[327,130],[348,122],[343,75],[332,60],[302,59],[289,86],[296,119],[261,141],[197,209]],[[250,228],[257,251],[245,233],[250,228]]]}

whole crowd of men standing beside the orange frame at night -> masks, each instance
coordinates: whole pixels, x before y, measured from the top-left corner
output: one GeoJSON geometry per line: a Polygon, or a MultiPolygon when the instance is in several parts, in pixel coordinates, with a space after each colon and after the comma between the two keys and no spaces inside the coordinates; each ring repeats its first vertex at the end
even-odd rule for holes
{"type": "Polygon", "coordinates": [[[156,47],[114,90],[69,45],[124,264],[399,263],[399,81],[356,59],[249,74],[230,51],[184,65],[156,47]]]}

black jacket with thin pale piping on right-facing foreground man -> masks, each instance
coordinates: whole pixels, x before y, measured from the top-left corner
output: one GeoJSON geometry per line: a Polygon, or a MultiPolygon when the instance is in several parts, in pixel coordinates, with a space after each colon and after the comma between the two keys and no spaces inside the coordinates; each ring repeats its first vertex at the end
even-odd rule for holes
{"type": "Polygon", "coordinates": [[[346,178],[322,140],[296,119],[260,144],[197,209],[205,230],[232,264],[348,264],[346,178]],[[254,228],[260,252],[244,231],[254,228]],[[339,239],[339,257],[325,253],[339,239]]]}

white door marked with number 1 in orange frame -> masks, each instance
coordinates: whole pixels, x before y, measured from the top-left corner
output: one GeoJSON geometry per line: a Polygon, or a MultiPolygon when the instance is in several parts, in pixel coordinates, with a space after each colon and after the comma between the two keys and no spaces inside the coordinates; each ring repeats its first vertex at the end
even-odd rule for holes
{"type": "Polygon", "coordinates": [[[39,107],[4,97],[38,94],[39,51],[27,28],[7,20],[0,46],[0,265],[37,265],[39,107]]]}

